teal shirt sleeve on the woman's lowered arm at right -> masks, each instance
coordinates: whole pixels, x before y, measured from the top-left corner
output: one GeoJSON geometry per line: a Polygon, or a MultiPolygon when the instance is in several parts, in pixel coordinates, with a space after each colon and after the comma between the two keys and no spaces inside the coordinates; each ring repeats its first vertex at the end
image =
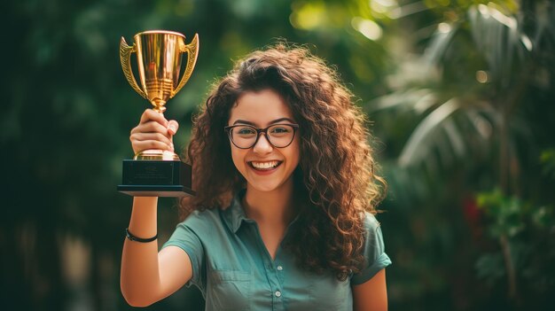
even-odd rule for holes
{"type": "Polygon", "coordinates": [[[391,264],[391,260],[385,252],[384,238],[379,228],[379,222],[374,215],[366,213],[364,219],[364,267],[363,269],[351,276],[351,284],[363,284],[375,276],[379,270],[386,268],[391,264]]]}

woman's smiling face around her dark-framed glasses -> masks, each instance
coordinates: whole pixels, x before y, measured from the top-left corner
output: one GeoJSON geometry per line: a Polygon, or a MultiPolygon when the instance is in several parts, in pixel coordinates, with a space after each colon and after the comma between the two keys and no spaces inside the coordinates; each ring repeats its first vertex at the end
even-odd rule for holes
{"type": "MultiPolygon", "coordinates": [[[[248,91],[231,108],[228,125],[252,125],[267,128],[273,124],[295,124],[293,113],[282,97],[272,89],[248,91]]],[[[274,133],[281,135],[283,128],[274,133]]],[[[248,134],[248,133],[247,133],[248,134]]],[[[269,133],[270,134],[270,133],[269,133]]],[[[271,134],[270,134],[271,135],[271,134]]],[[[230,142],[231,143],[231,142],[230,142]]],[[[260,135],[253,147],[240,149],[231,143],[231,158],[246,179],[247,190],[273,191],[293,187],[293,171],[299,164],[298,135],[285,148],[276,148],[260,135]]]]}

